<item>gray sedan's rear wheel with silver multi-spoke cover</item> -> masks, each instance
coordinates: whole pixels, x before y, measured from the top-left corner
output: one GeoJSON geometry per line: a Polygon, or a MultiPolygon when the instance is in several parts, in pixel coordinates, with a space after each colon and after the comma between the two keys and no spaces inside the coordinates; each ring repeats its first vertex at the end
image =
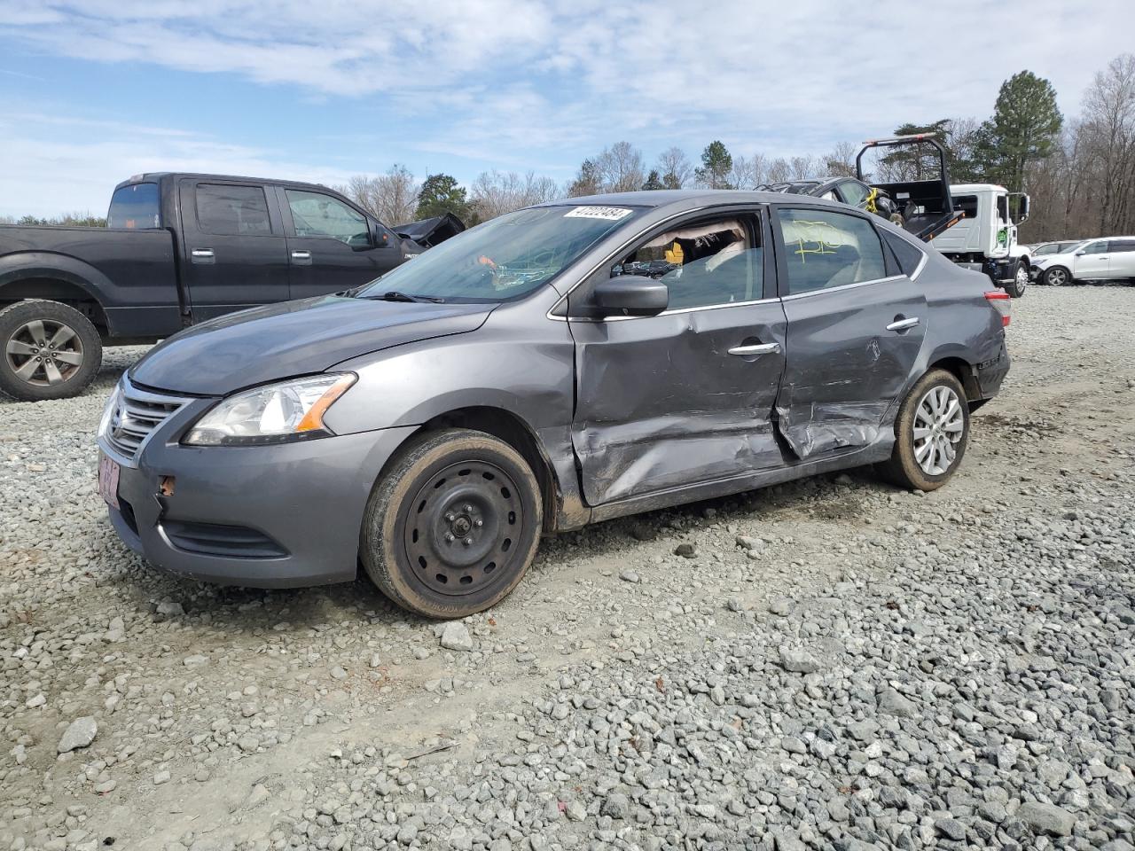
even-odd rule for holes
{"type": "MultiPolygon", "coordinates": [[[[926,429],[927,427],[918,424],[918,428],[926,429]]],[[[968,443],[969,405],[965,388],[950,372],[939,369],[931,370],[918,379],[902,401],[899,415],[894,420],[894,449],[891,457],[878,464],[877,469],[884,479],[899,487],[913,490],[938,490],[950,480],[950,477],[960,466],[968,443]],[[934,416],[934,405],[945,401],[948,406],[950,399],[957,402],[957,412],[949,408],[951,413],[944,419],[947,428],[943,429],[940,424],[936,430],[931,430],[930,439],[918,444],[915,436],[916,423],[934,422],[935,420],[941,423],[941,420],[934,416]],[[942,440],[949,444],[948,449],[943,446],[942,440]],[[925,454],[927,452],[926,444],[931,444],[930,454],[925,454]],[[951,450],[952,457],[949,455],[951,450]],[[935,458],[938,463],[935,463],[935,458]],[[942,463],[943,461],[945,463],[942,463]]]]}

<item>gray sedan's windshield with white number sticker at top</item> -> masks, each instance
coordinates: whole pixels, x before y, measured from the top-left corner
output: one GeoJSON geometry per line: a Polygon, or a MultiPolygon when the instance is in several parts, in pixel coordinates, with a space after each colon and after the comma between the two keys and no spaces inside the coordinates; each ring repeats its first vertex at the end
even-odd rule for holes
{"type": "Polygon", "coordinates": [[[360,298],[398,294],[503,302],[544,286],[641,212],[631,207],[536,207],[478,225],[368,284],[360,298]]]}

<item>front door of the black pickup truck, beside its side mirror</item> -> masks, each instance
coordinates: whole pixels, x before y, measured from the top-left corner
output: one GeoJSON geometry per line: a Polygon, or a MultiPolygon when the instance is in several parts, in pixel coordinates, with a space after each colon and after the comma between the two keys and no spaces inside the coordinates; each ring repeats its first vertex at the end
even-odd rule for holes
{"type": "Polygon", "coordinates": [[[287,227],[293,298],[351,289],[402,262],[401,241],[342,199],[277,187],[287,227]]]}

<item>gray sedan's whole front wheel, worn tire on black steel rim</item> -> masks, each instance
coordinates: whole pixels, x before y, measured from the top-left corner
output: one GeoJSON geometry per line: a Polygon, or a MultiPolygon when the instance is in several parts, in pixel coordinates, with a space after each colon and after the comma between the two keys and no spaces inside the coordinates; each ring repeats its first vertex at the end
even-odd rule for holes
{"type": "Polygon", "coordinates": [[[375,485],[360,554],[379,590],[435,618],[482,612],[523,579],[540,541],[540,486],[484,431],[428,432],[375,485]]]}

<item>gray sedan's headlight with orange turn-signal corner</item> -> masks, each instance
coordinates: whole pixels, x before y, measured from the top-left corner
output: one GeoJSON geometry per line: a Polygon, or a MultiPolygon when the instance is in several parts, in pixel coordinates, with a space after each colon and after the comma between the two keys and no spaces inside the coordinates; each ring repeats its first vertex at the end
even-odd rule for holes
{"type": "Polygon", "coordinates": [[[355,382],[353,373],[297,378],[238,393],[197,420],[190,446],[283,444],[327,437],[323,414],[355,382]]]}

